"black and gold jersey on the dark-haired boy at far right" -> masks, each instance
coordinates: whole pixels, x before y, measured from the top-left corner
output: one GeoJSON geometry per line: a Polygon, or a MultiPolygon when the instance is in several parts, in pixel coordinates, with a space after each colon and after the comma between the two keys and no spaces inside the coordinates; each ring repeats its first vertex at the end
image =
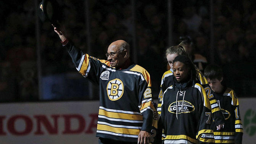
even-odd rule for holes
{"type": "Polygon", "coordinates": [[[216,129],[215,120],[212,123],[215,143],[241,144],[243,126],[239,113],[238,99],[235,92],[232,89],[225,88],[221,93],[214,92],[214,96],[225,117],[224,128],[220,129],[220,131],[217,131],[216,129]]]}

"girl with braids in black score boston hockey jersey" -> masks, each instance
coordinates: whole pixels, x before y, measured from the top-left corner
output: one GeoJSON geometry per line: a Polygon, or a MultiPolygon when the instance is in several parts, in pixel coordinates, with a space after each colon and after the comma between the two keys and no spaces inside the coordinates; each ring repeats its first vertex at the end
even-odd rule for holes
{"type": "Polygon", "coordinates": [[[164,91],[161,107],[164,144],[214,143],[211,104],[196,67],[186,55],[172,63],[174,83],[164,91]]]}

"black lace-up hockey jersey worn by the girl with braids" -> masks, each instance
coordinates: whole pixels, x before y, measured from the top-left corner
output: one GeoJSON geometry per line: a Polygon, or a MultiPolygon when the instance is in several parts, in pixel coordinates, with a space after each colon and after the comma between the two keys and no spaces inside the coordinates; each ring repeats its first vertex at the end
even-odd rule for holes
{"type": "Polygon", "coordinates": [[[176,83],[163,95],[164,144],[214,143],[211,104],[201,84],[188,84],[180,89],[176,83]]]}

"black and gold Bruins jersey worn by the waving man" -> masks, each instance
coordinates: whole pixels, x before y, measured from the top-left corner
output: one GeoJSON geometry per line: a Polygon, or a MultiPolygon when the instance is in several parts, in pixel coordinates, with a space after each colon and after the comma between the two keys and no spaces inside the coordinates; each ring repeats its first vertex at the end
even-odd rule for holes
{"type": "Polygon", "coordinates": [[[99,85],[96,137],[137,142],[141,130],[154,136],[152,126],[157,129],[159,116],[152,102],[149,73],[136,64],[117,70],[109,61],[84,54],[72,42],[65,47],[79,73],[99,85]]]}

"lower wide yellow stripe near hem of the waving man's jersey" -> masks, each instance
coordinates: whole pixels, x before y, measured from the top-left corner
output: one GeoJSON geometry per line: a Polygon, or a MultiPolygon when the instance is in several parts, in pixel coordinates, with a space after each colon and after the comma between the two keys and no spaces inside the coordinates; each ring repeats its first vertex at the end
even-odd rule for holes
{"type": "Polygon", "coordinates": [[[121,134],[139,134],[140,129],[130,129],[130,128],[115,128],[112,126],[108,126],[108,125],[101,125],[98,124],[97,125],[97,130],[102,130],[102,131],[111,131],[114,133],[121,133],[121,134]]]}

